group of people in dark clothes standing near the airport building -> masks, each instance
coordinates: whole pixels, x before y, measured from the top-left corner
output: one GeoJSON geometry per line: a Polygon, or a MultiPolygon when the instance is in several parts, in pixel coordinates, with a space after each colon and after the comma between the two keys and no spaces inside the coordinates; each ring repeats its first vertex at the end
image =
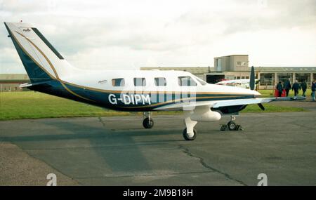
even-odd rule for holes
{"type": "MultiPolygon", "coordinates": [[[[290,79],[285,81],[284,85],[282,85],[282,82],[279,81],[279,84],[277,84],[277,91],[279,92],[279,97],[282,96],[283,90],[285,90],[286,95],[289,96],[289,91],[292,89],[294,91],[294,95],[298,95],[298,91],[302,90],[303,91],[303,97],[305,97],[305,92],[307,90],[308,86],[306,84],[306,81],[302,81],[301,84],[298,84],[298,81],[296,80],[291,86],[290,79]]],[[[312,100],[315,101],[315,91],[316,91],[316,80],[312,82],[312,100]]]]}

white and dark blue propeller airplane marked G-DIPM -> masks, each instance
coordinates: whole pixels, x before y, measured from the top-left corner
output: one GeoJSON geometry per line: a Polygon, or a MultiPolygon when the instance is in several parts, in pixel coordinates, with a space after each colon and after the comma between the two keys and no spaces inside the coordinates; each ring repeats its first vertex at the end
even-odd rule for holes
{"type": "Polygon", "coordinates": [[[4,22],[18,51],[30,83],[21,87],[106,109],[143,112],[144,128],[152,128],[152,111],[181,110],[183,138],[195,140],[198,121],[218,121],[230,115],[222,128],[237,130],[235,115],[247,105],[294,98],[259,98],[254,91],[254,67],[250,88],[207,84],[189,72],[157,70],[88,70],[72,67],[39,30],[24,22],[4,22]]]}

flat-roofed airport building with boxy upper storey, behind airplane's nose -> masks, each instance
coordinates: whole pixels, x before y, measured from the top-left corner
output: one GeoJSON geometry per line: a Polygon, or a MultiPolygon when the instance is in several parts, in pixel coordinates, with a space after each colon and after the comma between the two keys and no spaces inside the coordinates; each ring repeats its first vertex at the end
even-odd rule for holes
{"type": "MultiPolygon", "coordinates": [[[[198,76],[210,84],[223,79],[249,79],[249,55],[227,55],[214,58],[214,67],[142,67],[141,69],[181,70],[198,76]]],[[[308,86],[316,79],[316,67],[254,67],[256,79],[260,79],[259,88],[272,89],[279,82],[291,79],[308,86]]]]}

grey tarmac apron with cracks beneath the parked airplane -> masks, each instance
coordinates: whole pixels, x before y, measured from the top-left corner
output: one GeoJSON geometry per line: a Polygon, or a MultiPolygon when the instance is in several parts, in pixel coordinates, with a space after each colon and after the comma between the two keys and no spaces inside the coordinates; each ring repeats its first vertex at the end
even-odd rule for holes
{"type": "Polygon", "coordinates": [[[183,116],[0,121],[0,185],[316,185],[316,103],[308,112],[237,116],[198,123],[185,141],[183,116]]]}

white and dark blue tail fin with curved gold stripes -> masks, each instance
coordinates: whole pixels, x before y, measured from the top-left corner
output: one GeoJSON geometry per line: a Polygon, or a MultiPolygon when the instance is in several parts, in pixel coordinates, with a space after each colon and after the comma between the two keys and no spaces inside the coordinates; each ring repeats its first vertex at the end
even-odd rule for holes
{"type": "Polygon", "coordinates": [[[4,22],[32,82],[60,79],[72,68],[32,25],[4,22]]]}

